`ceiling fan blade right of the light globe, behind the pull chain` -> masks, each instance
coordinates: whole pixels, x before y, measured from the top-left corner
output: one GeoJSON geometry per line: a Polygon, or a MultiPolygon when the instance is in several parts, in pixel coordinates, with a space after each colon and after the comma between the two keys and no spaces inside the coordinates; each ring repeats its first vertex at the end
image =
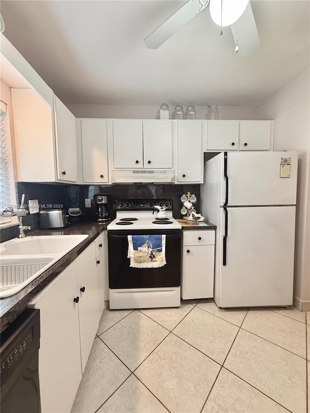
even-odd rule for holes
{"type": "Polygon", "coordinates": [[[235,44],[237,44],[238,37],[238,55],[248,56],[261,46],[260,36],[257,31],[250,2],[248,2],[246,10],[243,15],[241,15],[238,22],[231,25],[231,29],[235,44]]]}

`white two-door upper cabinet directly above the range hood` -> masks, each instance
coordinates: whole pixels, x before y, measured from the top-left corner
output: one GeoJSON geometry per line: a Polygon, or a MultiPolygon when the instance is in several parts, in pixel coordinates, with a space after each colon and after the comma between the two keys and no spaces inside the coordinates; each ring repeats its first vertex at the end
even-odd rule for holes
{"type": "Polygon", "coordinates": [[[171,121],[114,120],[114,168],[172,168],[171,121]]]}

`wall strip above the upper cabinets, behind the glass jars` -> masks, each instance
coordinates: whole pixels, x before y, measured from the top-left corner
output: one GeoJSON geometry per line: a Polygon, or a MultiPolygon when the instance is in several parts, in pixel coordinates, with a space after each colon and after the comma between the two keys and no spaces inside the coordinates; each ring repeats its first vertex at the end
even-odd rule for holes
{"type": "MultiPolygon", "coordinates": [[[[175,105],[168,103],[170,116],[175,105]]],[[[183,104],[184,110],[191,102],[183,104]]],[[[77,118],[159,119],[159,106],[67,105],[77,118]]],[[[207,106],[196,106],[197,119],[206,119],[207,106]]],[[[257,119],[257,106],[219,106],[219,119],[257,119]]]]}

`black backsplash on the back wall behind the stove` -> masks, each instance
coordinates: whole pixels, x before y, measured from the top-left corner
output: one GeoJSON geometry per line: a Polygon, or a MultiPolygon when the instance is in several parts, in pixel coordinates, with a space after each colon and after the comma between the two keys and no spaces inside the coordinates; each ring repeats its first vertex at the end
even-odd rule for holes
{"type": "MultiPolygon", "coordinates": [[[[76,189],[71,188],[72,191],[76,189]]],[[[110,215],[111,218],[115,218],[116,210],[115,203],[117,199],[126,198],[145,198],[145,199],[155,199],[155,198],[168,198],[172,199],[173,205],[173,217],[178,219],[182,218],[180,212],[182,208],[182,202],[180,198],[183,194],[187,194],[190,191],[191,194],[195,194],[197,202],[195,203],[195,209],[199,213],[199,203],[200,203],[200,185],[148,185],[148,184],[131,184],[131,185],[109,185],[109,186],[80,186],[79,187],[79,205],[82,209],[85,218],[92,218],[94,214],[94,205],[92,203],[92,208],[85,208],[85,198],[90,198],[93,200],[94,194],[109,194],[110,197],[110,215]]]]}

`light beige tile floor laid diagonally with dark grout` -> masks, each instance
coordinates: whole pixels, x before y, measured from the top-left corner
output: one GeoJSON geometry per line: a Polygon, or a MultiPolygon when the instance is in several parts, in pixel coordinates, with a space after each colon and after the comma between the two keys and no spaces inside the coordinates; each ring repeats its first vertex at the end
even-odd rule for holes
{"type": "Polygon", "coordinates": [[[309,323],[211,299],[105,309],[72,413],[306,413],[309,323]]]}

